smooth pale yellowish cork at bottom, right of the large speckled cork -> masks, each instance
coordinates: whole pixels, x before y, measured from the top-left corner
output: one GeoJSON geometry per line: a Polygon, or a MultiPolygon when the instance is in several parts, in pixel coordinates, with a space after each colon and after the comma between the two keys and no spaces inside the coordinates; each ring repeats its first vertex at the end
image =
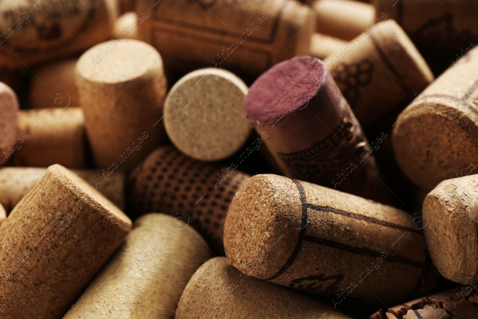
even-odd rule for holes
{"type": "Polygon", "coordinates": [[[211,252],[191,226],[172,225],[174,217],[157,213],[136,220],[63,319],[174,318],[188,280],[211,252]]]}

